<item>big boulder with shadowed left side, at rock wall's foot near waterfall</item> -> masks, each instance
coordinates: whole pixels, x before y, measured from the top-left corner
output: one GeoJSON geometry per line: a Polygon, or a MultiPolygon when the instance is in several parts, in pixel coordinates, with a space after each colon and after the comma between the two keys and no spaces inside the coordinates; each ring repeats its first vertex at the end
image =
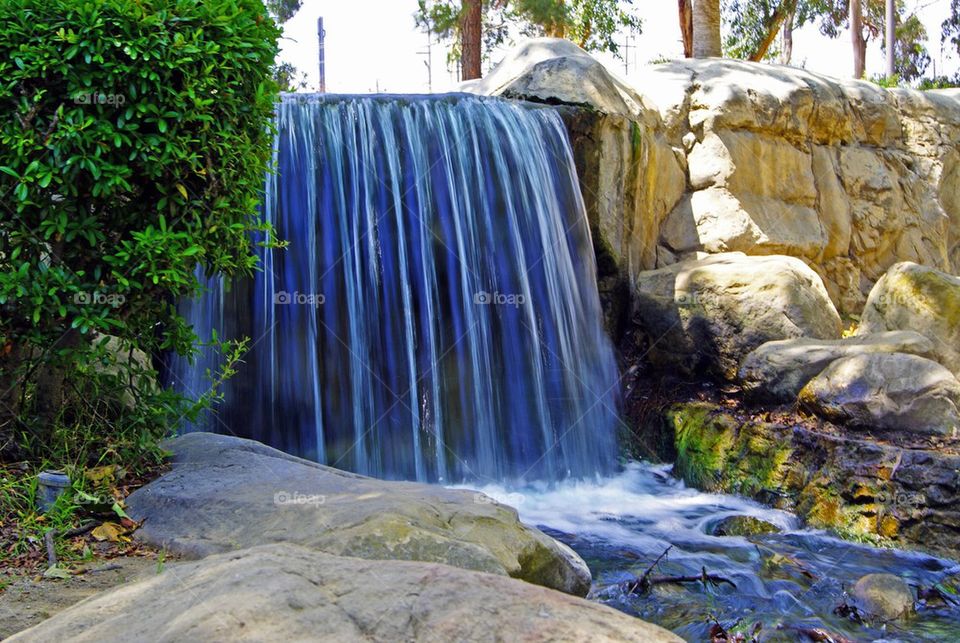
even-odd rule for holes
{"type": "Polygon", "coordinates": [[[640,273],[633,312],[652,364],[730,379],[761,344],[841,332],[820,277],[784,256],[724,253],[640,273]]]}

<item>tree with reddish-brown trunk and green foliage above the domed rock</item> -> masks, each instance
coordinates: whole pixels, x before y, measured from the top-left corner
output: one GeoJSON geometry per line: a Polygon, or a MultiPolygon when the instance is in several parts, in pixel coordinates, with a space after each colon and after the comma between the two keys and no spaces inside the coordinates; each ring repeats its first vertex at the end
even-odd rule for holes
{"type": "Polygon", "coordinates": [[[463,78],[480,75],[480,61],[496,47],[524,36],[566,38],[587,51],[618,52],[621,29],[639,32],[633,0],[418,0],[417,26],[453,45],[463,78]],[[479,30],[476,26],[479,24],[479,30]],[[469,64],[469,69],[468,69],[469,64]]]}

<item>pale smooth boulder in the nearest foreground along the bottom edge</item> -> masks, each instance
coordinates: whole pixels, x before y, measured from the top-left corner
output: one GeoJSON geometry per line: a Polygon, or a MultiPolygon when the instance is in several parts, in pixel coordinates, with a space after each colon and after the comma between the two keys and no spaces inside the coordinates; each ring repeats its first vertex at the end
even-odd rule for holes
{"type": "Polygon", "coordinates": [[[447,565],[274,544],[87,599],[9,641],[682,641],[609,607],[447,565]]]}

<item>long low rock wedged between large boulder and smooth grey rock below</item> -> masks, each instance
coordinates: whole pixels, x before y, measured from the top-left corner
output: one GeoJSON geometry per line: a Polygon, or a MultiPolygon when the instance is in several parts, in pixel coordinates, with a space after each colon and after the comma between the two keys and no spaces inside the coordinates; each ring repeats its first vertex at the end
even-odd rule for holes
{"type": "Polygon", "coordinates": [[[744,388],[764,400],[792,402],[804,384],[831,362],[866,353],[933,356],[933,343],[913,331],[888,331],[846,339],[785,339],[767,342],[747,355],[737,376],[744,388]]]}

